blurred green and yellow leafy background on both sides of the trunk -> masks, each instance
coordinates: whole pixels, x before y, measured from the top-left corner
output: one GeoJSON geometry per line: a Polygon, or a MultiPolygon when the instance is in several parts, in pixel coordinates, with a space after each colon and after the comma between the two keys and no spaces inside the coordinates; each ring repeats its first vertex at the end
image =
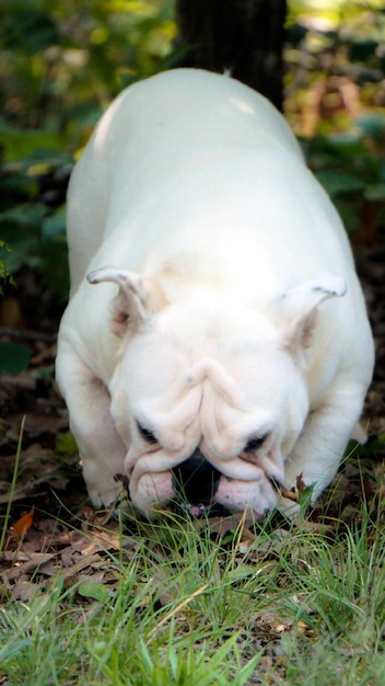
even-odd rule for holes
{"type": "MultiPolygon", "coordinates": [[[[383,222],[382,4],[289,3],[287,114],[350,231],[362,228],[363,215],[383,222]]],[[[0,27],[2,268],[37,270],[63,304],[65,190],[73,160],[114,95],[177,64],[174,7],[2,0],[0,27]]]]}

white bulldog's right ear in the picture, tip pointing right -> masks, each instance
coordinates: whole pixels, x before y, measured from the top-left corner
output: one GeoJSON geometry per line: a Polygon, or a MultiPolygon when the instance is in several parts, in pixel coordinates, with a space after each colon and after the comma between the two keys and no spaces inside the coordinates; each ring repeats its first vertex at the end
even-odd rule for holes
{"type": "Polygon", "coordinates": [[[275,302],[275,318],[283,331],[283,346],[295,353],[311,344],[317,308],[328,298],[339,298],[347,291],[340,276],[325,274],[288,290],[275,302]]]}

